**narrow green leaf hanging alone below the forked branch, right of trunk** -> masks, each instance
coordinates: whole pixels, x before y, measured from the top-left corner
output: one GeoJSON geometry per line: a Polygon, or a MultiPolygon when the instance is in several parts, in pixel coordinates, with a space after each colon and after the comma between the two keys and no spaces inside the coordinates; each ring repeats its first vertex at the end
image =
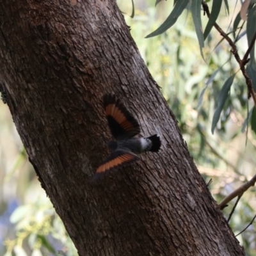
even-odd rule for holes
{"type": "Polygon", "coordinates": [[[232,86],[232,83],[234,81],[234,77],[236,74],[234,74],[233,76],[228,77],[228,79],[225,81],[223,87],[221,88],[219,97],[218,97],[218,106],[214,112],[213,118],[212,118],[212,134],[214,133],[214,129],[220,119],[220,114],[221,111],[223,109],[223,106],[225,104],[225,101],[228,97],[228,93],[230,91],[230,87],[232,86]]]}

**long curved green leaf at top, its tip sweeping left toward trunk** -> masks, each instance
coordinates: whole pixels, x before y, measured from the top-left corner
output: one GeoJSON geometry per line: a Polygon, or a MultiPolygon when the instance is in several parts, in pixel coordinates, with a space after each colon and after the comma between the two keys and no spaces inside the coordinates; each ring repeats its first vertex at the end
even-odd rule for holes
{"type": "Polygon", "coordinates": [[[184,11],[188,3],[189,3],[189,0],[177,1],[172,12],[168,16],[168,18],[163,22],[163,24],[159,28],[157,28],[154,32],[147,35],[146,38],[160,35],[164,33],[167,29],[171,28],[173,24],[175,24],[176,20],[179,18],[180,14],[184,11]]]}

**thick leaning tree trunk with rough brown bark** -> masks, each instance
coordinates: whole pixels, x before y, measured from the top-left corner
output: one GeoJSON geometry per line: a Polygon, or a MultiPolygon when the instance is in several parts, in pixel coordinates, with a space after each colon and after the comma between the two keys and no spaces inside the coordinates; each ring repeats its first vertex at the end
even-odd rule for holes
{"type": "Polygon", "coordinates": [[[79,255],[244,255],[115,1],[0,3],[7,104],[79,255]],[[162,147],[91,183],[109,155],[108,92],[162,147]]]}

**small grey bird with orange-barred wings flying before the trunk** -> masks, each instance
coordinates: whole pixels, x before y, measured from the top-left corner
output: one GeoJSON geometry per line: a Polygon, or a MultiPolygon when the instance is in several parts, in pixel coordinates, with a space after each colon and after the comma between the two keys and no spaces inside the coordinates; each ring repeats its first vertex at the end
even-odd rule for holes
{"type": "Polygon", "coordinates": [[[157,134],[140,138],[140,125],[115,95],[103,96],[109,129],[116,141],[109,141],[108,147],[113,153],[97,168],[93,180],[139,159],[137,154],[152,151],[158,152],[161,140],[157,134]]]}

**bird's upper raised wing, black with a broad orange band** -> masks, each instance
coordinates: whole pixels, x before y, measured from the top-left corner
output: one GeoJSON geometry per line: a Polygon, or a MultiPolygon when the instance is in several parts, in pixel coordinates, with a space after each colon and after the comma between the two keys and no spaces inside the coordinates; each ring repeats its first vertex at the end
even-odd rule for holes
{"type": "Polygon", "coordinates": [[[116,140],[124,140],[140,133],[140,125],[115,95],[106,94],[103,105],[111,133],[116,140]]]}

